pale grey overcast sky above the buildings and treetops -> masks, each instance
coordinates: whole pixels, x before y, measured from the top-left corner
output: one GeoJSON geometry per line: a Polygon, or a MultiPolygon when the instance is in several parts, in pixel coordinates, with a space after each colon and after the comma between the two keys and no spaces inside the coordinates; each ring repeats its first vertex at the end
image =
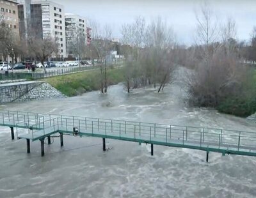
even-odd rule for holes
{"type": "MultiPolygon", "coordinates": [[[[196,29],[195,9],[202,0],[51,0],[65,6],[66,13],[75,13],[97,20],[102,26],[110,24],[113,36],[120,38],[122,24],[132,22],[141,15],[150,22],[161,16],[173,27],[179,43],[189,45],[194,41],[196,29]]],[[[237,37],[248,40],[256,26],[256,0],[209,0],[219,22],[227,17],[236,20],[237,37]]]]}

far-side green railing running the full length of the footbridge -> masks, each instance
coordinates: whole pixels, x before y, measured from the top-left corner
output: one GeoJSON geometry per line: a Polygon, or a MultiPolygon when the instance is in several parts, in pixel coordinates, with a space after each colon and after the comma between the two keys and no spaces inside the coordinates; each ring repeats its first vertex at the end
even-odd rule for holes
{"type": "Polygon", "coordinates": [[[76,127],[79,132],[105,134],[108,136],[134,139],[136,141],[172,142],[173,144],[212,146],[219,149],[251,150],[256,148],[256,133],[239,130],[15,111],[1,111],[1,122],[10,122],[17,124],[17,126],[28,125],[33,128],[44,129],[44,134],[49,129],[56,130],[56,128],[72,132],[73,128],[76,127]]]}

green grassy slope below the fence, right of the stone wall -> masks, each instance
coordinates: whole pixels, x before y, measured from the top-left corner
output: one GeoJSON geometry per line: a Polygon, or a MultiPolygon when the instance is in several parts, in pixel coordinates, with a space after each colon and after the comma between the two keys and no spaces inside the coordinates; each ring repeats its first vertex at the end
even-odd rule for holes
{"type": "MultiPolygon", "coordinates": [[[[100,70],[72,73],[45,79],[51,86],[66,96],[76,96],[88,91],[99,90],[100,70]]],[[[124,81],[123,68],[108,69],[108,85],[124,81]]]]}

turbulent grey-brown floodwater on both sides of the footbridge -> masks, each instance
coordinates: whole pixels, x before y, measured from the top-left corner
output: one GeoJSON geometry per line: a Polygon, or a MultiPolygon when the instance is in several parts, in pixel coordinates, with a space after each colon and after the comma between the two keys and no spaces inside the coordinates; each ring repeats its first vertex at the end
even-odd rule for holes
{"type": "MultiPolygon", "coordinates": [[[[8,103],[0,109],[125,119],[173,125],[255,131],[246,119],[216,110],[188,108],[176,82],[157,93],[141,88],[126,93],[122,84],[63,99],[8,103]]],[[[0,127],[0,197],[256,197],[256,158],[107,139],[64,137],[45,145],[11,141],[0,127]]]]}

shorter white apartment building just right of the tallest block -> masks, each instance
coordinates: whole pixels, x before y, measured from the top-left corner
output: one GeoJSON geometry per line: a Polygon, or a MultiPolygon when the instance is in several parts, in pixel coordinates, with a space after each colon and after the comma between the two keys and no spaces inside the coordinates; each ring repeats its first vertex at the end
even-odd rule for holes
{"type": "Polygon", "coordinates": [[[79,15],[72,13],[65,14],[65,29],[66,29],[66,45],[67,45],[67,56],[69,54],[68,42],[72,42],[77,36],[77,33],[84,34],[84,43],[87,45],[87,28],[86,19],[79,15]]]}

